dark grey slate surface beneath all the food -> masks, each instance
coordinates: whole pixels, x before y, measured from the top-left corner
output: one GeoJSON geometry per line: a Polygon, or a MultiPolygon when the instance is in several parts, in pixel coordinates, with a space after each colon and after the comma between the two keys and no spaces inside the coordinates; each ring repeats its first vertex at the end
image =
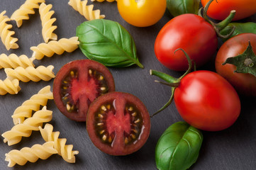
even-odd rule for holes
{"type": "MultiPolygon", "coordinates": [[[[6,14],[10,17],[25,0],[1,0],[0,12],[6,10],[6,14]]],[[[83,16],[67,4],[68,0],[46,0],[47,4],[52,4],[52,9],[55,11],[53,15],[57,18],[55,33],[60,38],[71,38],[75,35],[76,27],[85,21],[83,16]]],[[[88,4],[92,4],[90,1],[88,4]]],[[[106,19],[117,21],[124,26],[133,36],[140,62],[145,66],[145,69],[140,69],[137,66],[124,69],[113,69],[111,72],[116,81],[116,91],[124,91],[138,96],[145,103],[150,114],[157,111],[163,103],[167,102],[170,96],[170,89],[167,86],[162,86],[154,82],[155,77],[150,77],[149,70],[157,69],[161,72],[178,77],[182,73],[173,72],[160,64],[154,54],[154,42],[157,33],[162,26],[169,21],[171,16],[165,13],[162,20],[148,28],[136,28],[130,26],[123,21],[118,13],[116,2],[99,3],[94,2],[94,8],[101,9],[101,13],[106,15],[106,19]]],[[[244,21],[256,21],[256,15],[247,18],[244,21]]],[[[31,46],[38,45],[43,42],[41,35],[41,23],[38,10],[35,10],[35,15],[30,16],[29,21],[23,21],[23,26],[17,28],[13,24],[13,30],[16,31],[18,38],[18,50],[7,51],[2,43],[0,43],[0,53],[9,55],[32,55],[31,46]]],[[[53,57],[45,57],[43,60],[35,62],[35,65],[40,64],[55,66],[54,72],[72,60],[84,59],[84,55],[80,50],[72,53],[65,52],[63,55],[54,55],[53,57]]],[[[213,69],[213,63],[209,63],[201,69],[213,69]]],[[[0,70],[0,78],[5,79],[4,69],[0,70]]],[[[4,133],[13,127],[11,115],[18,106],[21,106],[23,101],[27,100],[33,94],[36,94],[41,88],[50,84],[52,81],[39,82],[21,82],[21,91],[17,95],[0,96],[0,133],[4,133]]],[[[221,132],[203,132],[204,142],[201,147],[199,159],[191,169],[196,170],[234,170],[234,169],[255,169],[256,167],[256,101],[255,98],[240,97],[242,101],[242,111],[240,117],[235,124],[221,132]]],[[[162,132],[169,125],[182,120],[177,113],[177,110],[172,103],[165,111],[152,118],[152,130],[148,142],[134,154],[126,157],[113,157],[99,151],[91,143],[86,130],[85,123],[76,123],[67,119],[60,111],[57,110],[53,101],[48,103],[48,109],[53,111],[53,118],[50,123],[54,126],[54,131],[60,131],[60,137],[67,138],[67,144],[73,144],[74,149],[79,150],[77,162],[68,164],[62,157],[55,154],[47,160],[38,160],[36,163],[27,163],[25,166],[14,166],[12,169],[156,169],[155,166],[155,145],[162,132]]],[[[4,161],[5,153],[11,149],[21,149],[22,147],[31,147],[39,143],[43,144],[43,139],[40,132],[33,132],[30,137],[23,137],[22,141],[17,145],[9,147],[3,142],[3,137],[0,141],[0,169],[9,169],[7,162],[4,161]]]]}

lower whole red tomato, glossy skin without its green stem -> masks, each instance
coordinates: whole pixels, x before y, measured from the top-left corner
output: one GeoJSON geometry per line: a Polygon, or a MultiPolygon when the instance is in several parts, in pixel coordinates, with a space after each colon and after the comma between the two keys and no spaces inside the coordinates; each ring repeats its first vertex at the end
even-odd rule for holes
{"type": "Polygon", "coordinates": [[[240,99],[233,86],[210,71],[187,74],[174,91],[174,102],[182,118],[201,130],[224,130],[240,115],[240,99]]]}

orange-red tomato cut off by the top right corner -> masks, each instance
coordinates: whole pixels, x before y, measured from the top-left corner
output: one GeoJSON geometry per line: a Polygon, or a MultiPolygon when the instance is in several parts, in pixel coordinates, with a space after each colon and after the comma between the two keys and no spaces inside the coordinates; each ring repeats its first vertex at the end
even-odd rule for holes
{"type": "MultiPolygon", "coordinates": [[[[201,4],[206,6],[209,0],[201,0],[201,4]]],[[[207,15],[216,20],[225,19],[230,11],[235,10],[235,17],[233,21],[237,21],[248,16],[252,16],[256,13],[256,1],[255,0],[222,0],[213,1],[208,8],[207,15]]]]}

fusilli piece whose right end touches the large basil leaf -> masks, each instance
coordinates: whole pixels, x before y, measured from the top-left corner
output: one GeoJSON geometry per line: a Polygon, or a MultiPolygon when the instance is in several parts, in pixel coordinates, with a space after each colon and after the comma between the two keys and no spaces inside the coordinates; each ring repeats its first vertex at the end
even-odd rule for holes
{"type": "Polygon", "coordinates": [[[63,52],[73,52],[78,48],[78,37],[62,38],[58,41],[51,40],[48,43],[40,43],[37,47],[30,47],[33,50],[33,55],[37,60],[43,59],[43,57],[52,57],[55,53],[61,55],[63,52]]]}

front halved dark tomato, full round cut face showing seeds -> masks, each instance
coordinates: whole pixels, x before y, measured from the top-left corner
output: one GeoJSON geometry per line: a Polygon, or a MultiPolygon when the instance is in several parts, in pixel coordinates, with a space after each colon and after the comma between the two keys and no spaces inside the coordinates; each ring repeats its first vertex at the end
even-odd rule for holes
{"type": "Polygon", "coordinates": [[[102,152],[116,156],[131,154],[148,140],[150,115],[137,97],[113,91],[91,103],[87,132],[102,152]]]}

